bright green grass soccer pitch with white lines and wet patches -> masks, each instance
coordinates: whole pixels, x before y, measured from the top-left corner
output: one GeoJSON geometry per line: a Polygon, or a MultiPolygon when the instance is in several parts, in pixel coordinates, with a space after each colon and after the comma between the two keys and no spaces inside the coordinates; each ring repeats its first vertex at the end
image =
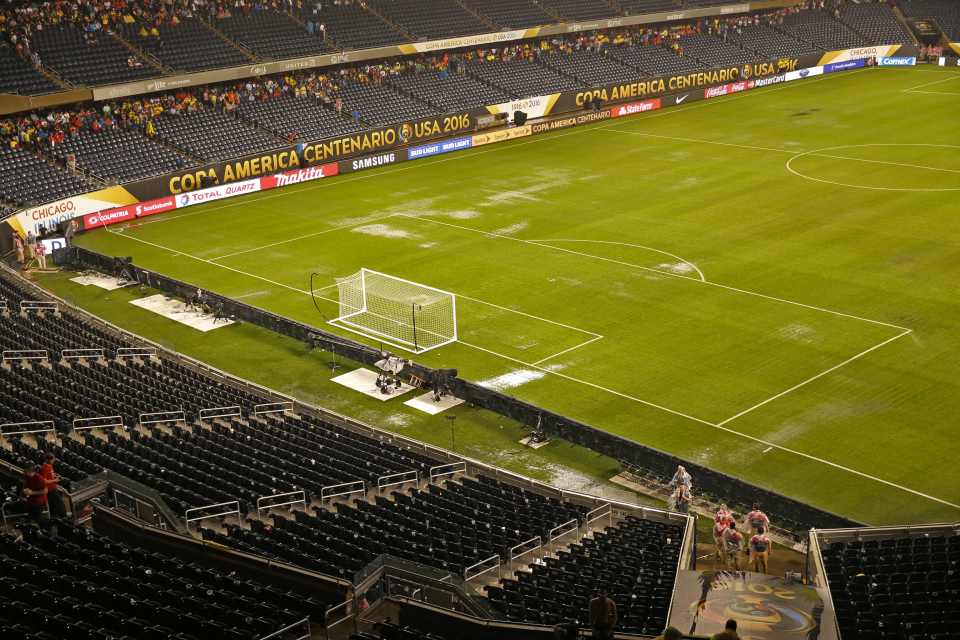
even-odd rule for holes
{"type": "Polygon", "coordinates": [[[824,76],[79,243],[328,329],[313,272],[445,289],[460,341],[424,364],[866,522],[954,521],[958,94],[937,68],[824,76]]]}

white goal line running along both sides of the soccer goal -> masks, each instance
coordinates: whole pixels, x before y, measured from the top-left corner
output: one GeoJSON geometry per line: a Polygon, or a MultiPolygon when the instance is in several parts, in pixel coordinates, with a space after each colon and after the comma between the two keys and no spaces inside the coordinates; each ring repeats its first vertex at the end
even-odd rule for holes
{"type": "MultiPolygon", "coordinates": [[[[108,231],[109,231],[110,233],[115,233],[116,235],[120,235],[120,236],[129,238],[129,239],[134,240],[134,241],[136,241],[136,242],[140,242],[140,243],[143,243],[143,244],[146,244],[146,245],[155,247],[155,248],[157,248],[157,249],[161,249],[161,250],[163,250],[163,251],[170,251],[170,252],[172,252],[172,253],[177,253],[177,254],[179,254],[179,255],[182,255],[182,256],[184,256],[184,257],[187,257],[187,258],[196,260],[196,261],[198,261],[198,262],[203,262],[203,263],[206,263],[206,264],[210,264],[210,265],[213,265],[213,266],[215,266],[215,267],[219,267],[219,268],[221,268],[221,269],[227,269],[228,271],[232,271],[232,272],[238,273],[238,274],[240,274],[240,275],[246,275],[246,276],[249,276],[249,277],[251,277],[251,278],[256,278],[256,279],[258,279],[258,280],[262,280],[262,281],[264,281],[264,282],[268,282],[268,283],[270,283],[270,284],[276,285],[276,286],[278,286],[278,287],[282,287],[282,288],[284,288],[284,289],[290,289],[291,291],[296,291],[296,292],[298,292],[298,293],[302,293],[302,294],[305,294],[305,295],[312,295],[309,291],[304,291],[304,290],[302,290],[302,289],[297,289],[296,287],[291,287],[291,286],[289,286],[289,285],[285,285],[285,284],[282,284],[282,283],[279,283],[279,282],[275,282],[275,281],[272,281],[272,280],[268,280],[268,279],[263,278],[263,277],[261,277],[261,276],[258,276],[258,275],[252,274],[252,273],[247,273],[247,272],[241,271],[241,270],[239,270],[239,269],[234,269],[234,268],[232,268],[232,267],[228,267],[228,266],[226,266],[226,265],[223,265],[223,264],[220,264],[220,263],[217,263],[217,262],[211,262],[211,261],[206,260],[206,259],[204,259],[204,258],[198,258],[198,257],[196,257],[196,256],[192,256],[192,255],[190,255],[190,254],[183,253],[182,251],[176,251],[176,250],[171,249],[171,248],[169,248],[169,247],[164,247],[164,246],[155,244],[155,243],[153,243],[153,242],[149,242],[149,241],[147,241],[147,240],[142,240],[142,239],[140,239],[140,238],[136,238],[136,237],[133,237],[133,236],[128,236],[128,235],[126,235],[126,234],[118,233],[118,232],[115,232],[115,231],[110,231],[109,228],[108,228],[108,231]]],[[[481,232],[481,233],[482,233],[482,232],[481,232]]],[[[490,235],[490,234],[486,234],[486,235],[490,235]]],[[[506,236],[506,237],[509,237],[509,236],[506,236]]],[[[514,239],[514,238],[510,238],[510,239],[514,239]]],[[[681,277],[685,277],[685,276],[681,276],[681,277]]],[[[688,279],[691,279],[691,280],[693,280],[694,282],[700,282],[699,280],[696,280],[696,279],[693,279],[693,278],[688,278],[688,279]]],[[[704,284],[713,284],[713,283],[707,282],[707,283],[704,283],[704,284]]],[[[767,297],[767,296],[764,296],[764,297],[767,297]]],[[[773,298],[773,299],[776,300],[776,298],[773,298]]],[[[789,301],[786,301],[786,302],[789,302],[789,301]]],[[[793,304],[799,304],[799,303],[793,303],[793,304]]],[[[806,305],[800,305],[800,306],[806,306],[806,305]]],[[[816,307],[813,307],[813,308],[816,308],[816,307]]],[[[831,312],[831,313],[835,313],[835,312],[831,312]]],[[[844,314],[840,314],[840,315],[844,315],[844,314]]],[[[875,322],[875,321],[869,321],[869,320],[868,320],[868,322],[875,322]]],[[[886,323],[879,323],[879,324],[886,324],[886,323]]],[[[889,325],[889,326],[893,326],[893,325],[889,325]]],[[[910,330],[908,330],[908,329],[903,329],[903,330],[904,330],[905,332],[909,332],[909,331],[910,331],[910,330]]],[[[897,337],[900,337],[900,336],[897,336],[897,337]]],[[[740,432],[740,431],[736,431],[736,430],[734,430],[734,429],[730,429],[729,427],[726,427],[726,426],[723,426],[723,425],[720,425],[720,424],[717,424],[717,423],[713,423],[713,422],[710,422],[710,421],[708,421],[708,420],[704,420],[704,419],[702,419],[702,418],[697,418],[696,416],[692,416],[692,415],[690,415],[690,414],[683,413],[682,411],[676,411],[676,410],[674,410],[674,409],[670,409],[670,408],[665,407],[665,406],[663,406],[663,405],[658,405],[658,404],[653,403],[653,402],[648,402],[648,401],[646,401],[646,400],[642,400],[642,399],[640,399],[640,398],[631,396],[631,395],[626,394],[626,393],[622,393],[622,392],[620,392],[620,391],[616,391],[616,390],[614,390],[614,389],[610,389],[610,388],[608,388],[608,387],[604,387],[604,386],[598,385],[598,384],[593,383],[593,382],[589,382],[589,381],[587,381],[587,380],[581,380],[581,379],[579,379],[579,378],[574,378],[573,376],[566,375],[566,374],[561,373],[561,372],[559,372],[559,371],[554,371],[554,370],[551,370],[551,369],[546,368],[546,367],[542,367],[542,366],[537,365],[537,364],[533,364],[533,363],[529,363],[529,362],[524,362],[523,360],[519,360],[519,359],[514,358],[514,357],[512,357],[512,356],[508,356],[508,355],[505,355],[505,354],[497,353],[496,351],[491,351],[490,349],[487,349],[487,348],[485,348],[485,347],[481,347],[481,346],[478,346],[478,345],[475,345],[475,344],[471,344],[471,343],[468,343],[468,342],[463,342],[462,340],[460,340],[460,341],[458,341],[458,342],[459,342],[460,344],[466,346],[466,347],[471,348],[471,349],[476,349],[476,350],[478,350],[478,351],[482,351],[482,352],[485,352],[485,353],[489,353],[490,355],[497,356],[497,357],[499,357],[499,358],[502,358],[502,359],[504,359],[504,360],[508,360],[508,361],[514,362],[514,363],[516,363],[516,364],[520,364],[520,365],[522,365],[522,366],[524,366],[524,367],[530,367],[530,368],[532,368],[532,369],[537,369],[537,370],[539,370],[539,371],[544,372],[544,373],[547,374],[547,375],[556,376],[556,377],[558,377],[558,378],[562,378],[562,379],[568,380],[568,381],[570,381],[570,382],[582,384],[582,385],[584,385],[584,386],[587,386],[587,387],[596,389],[596,390],[598,390],[598,391],[603,391],[603,392],[605,392],[605,393],[608,393],[608,394],[610,394],[610,395],[614,395],[614,396],[623,398],[623,399],[625,399],[625,400],[630,400],[630,401],[632,401],[632,402],[636,402],[636,403],[638,403],[638,404],[642,404],[642,405],[651,407],[651,408],[653,408],[653,409],[658,409],[658,410],[663,411],[663,412],[665,412],[665,413],[670,413],[670,414],[672,414],[672,415],[675,415],[675,416],[678,416],[678,417],[681,417],[681,418],[686,418],[687,420],[690,420],[690,421],[692,421],[692,422],[697,422],[697,423],[702,424],[702,425],[704,425],[704,426],[708,426],[708,427],[711,427],[711,428],[714,428],[714,429],[718,429],[718,430],[720,430],[720,431],[724,431],[724,432],[729,433],[729,434],[731,434],[731,435],[736,435],[736,436],[739,436],[739,437],[741,437],[741,438],[744,438],[744,439],[747,439],[747,440],[751,440],[751,441],[757,442],[757,443],[759,443],[759,444],[766,445],[766,446],[771,447],[771,448],[774,448],[774,449],[778,449],[778,450],[783,451],[783,452],[785,452],[785,453],[791,453],[791,454],[793,454],[793,455],[800,456],[800,457],[802,457],[802,458],[806,458],[806,459],[811,460],[811,461],[813,461],[813,462],[818,462],[818,463],[821,463],[821,464],[824,464],[824,465],[833,467],[833,468],[835,468],[835,469],[839,469],[839,470],[841,470],[841,471],[845,471],[845,472],[847,472],[847,473],[850,473],[850,474],[853,474],[853,475],[856,475],[856,476],[860,476],[860,477],[862,477],[862,478],[866,478],[866,479],[868,479],[868,480],[873,480],[874,482],[878,482],[878,483],[880,483],[880,484],[884,484],[884,485],[889,486],[889,487],[892,487],[892,488],[894,488],[894,489],[898,489],[898,490],[900,490],[900,491],[904,491],[904,492],[909,493],[909,494],[911,494],[911,495],[919,496],[919,497],[921,497],[921,498],[925,498],[925,499],[927,499],[927,500],[930,500],[930,501],[933,501],[933,502],[936,502],[936,503],[939,503],[939,504],[943,504],[943,505],[946,505],[946,506],[948,506],[948,507],[953,507],[954,509],[960,510],[960,505],[954,504],[954,503],[952,503],[952,502],[947,502],[946,500],[943,500],[943,499],[941,499],[941,498],[937,498],[937,497],[935,497],[935,496],[931,496],[931,495],[922,493],[922,492],[920,492],[920,491],[917,491],[916,489],[911,489],[911,488],[909,488],[909,487],[905,487],[905,486],[903,486],[903,485],[900,485],[900,484],[891,482],[891,481],[889,481],[889,480],[884,480],[883,478],[878,478],[878,477],[876,477],[876,476],[873,476],[873,475],[864,473],[864,472],[862,472],[862,471],[857,471],[856,469],[851,469],[850,467],[846,467],[846,466],[837,464],[836,462],[831,462],[830,460],[825,460],[825,459],[823,459],[823,458],[819,458],[819,457],[814,456],[814,455],[811,455],[811,454],[809,454],[809,453],[804,453],[804,452],[802,452],[802,451],[797,451],[796,449],[790,449],[789,447],[784,447],[784,446],[782,446],[782,445],[778,445],[778,444],[775,444],[775,443],[773,443],[773,442],[769,442],[769,441],[767,441],[767,440],[763,440],[762,438],[757,438],[756,436],[752,436],[752,435],[749,435],[749,434],[746,434],[746,433],[742,433],[742,432],[740,432]]],[[[889,341],[888,341],[888,342],[889,342],[889,341]]],[[[882,346],[882,345],[880,345],[880,346],[882,346]]],[[[879,348],[879,346],[876,347],[876,348],[879,348]]]]}

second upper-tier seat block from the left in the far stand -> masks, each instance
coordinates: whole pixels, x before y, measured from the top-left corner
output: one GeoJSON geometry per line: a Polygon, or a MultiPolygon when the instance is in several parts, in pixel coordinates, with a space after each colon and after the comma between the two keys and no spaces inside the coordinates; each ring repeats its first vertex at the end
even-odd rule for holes
{"type": "Polygon", "coordinates": [[[104,31],[84,33],[69,24],[48,25],[34,33],[33,48],[45,67],[74,84],[116,84],[160,75],[159,69],[135,58],[104,31]]]}

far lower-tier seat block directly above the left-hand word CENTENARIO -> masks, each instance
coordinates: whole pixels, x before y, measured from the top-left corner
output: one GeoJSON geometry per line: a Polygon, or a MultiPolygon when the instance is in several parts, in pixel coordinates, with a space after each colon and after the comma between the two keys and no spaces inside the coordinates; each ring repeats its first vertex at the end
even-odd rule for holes
{"type": "Polygon", "coordinates": [[[281,96],[266,102],[244,102],[240,117],[258,127],[273,131],[281,138],[297,141],[321,140],[361,131],[363,126],[346,115],[337,115],[316,98],[281,96]]]}

